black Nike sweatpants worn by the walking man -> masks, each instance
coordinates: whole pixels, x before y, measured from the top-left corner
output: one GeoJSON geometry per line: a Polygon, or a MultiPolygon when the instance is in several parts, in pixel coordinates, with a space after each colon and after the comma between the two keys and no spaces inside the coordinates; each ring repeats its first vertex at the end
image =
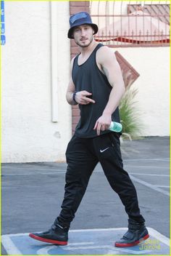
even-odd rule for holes
{"type": "Polygon", "coordinates": [[[110,132],[93,138],[80,138],[74,135],[67,146],[66,158],[67,172],[62,211],[54,223],[58,221],[62,226],[70,226],[98,162],[112,189],[120,196],[128,217],[138,223],[145,221],[140,214],[135,187],[128,172],[123,169],[119,134],[110,132]]]}

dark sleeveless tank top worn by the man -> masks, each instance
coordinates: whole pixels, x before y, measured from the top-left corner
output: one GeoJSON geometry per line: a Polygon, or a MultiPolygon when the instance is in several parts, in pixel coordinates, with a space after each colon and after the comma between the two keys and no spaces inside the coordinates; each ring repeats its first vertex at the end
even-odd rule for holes
{"type": "MultiPolygon", "coordinates": [[[[109,94],[112,90],[107,76],[102,73],[96,64],[96,52],[103,44],[98,44],[88,57],[85,63],[78,65],[78,56],[75,57],[72,68],[72,80],[76,91],[86,90],[92,93],[92,98],[96,103],[88,105],[79,105],[80,121],[75,129],[75,135],[78,137],[96,137],[96,130],[93,130],[97,119],[102,115],[104,108],[109,100],[109,94]]],[[[112,113],[112,121],[120,122],[118,108],[112,113]]],[[[110,132],[101,131],[101,135],[110,132]]]]}

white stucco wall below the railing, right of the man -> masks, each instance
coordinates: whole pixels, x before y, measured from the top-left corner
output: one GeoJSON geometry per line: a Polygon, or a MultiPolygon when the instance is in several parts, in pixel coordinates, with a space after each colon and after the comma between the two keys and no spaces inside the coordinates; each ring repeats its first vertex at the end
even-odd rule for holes
{"type": "Polygon", "coordinates": [[[170,135],[170,48],[117,48],[140,74],[132,85],[144,126],[143,136],[170,135]]]}

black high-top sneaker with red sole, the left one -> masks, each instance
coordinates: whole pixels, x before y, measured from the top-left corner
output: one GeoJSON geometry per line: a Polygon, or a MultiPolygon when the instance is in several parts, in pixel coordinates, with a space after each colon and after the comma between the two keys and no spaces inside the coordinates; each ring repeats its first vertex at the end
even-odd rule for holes
{"type": "Polygon", "coordinates": [[[41,233],[29,233],[32,239],[44,241],[46,243],[67,245],[69,228],[63,228],[61,225],[52,225],[49,231],[41,233]]]}

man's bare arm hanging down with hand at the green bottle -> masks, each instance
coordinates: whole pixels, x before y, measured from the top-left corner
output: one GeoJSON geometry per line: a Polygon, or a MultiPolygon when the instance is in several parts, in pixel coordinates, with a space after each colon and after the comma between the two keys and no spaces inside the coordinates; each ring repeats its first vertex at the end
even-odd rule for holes
{"type": "Polygon", "coordinates": [[[112,86],[112,91],[109,95],[109,100],[104,108],[104,112],[96,121],[94,129],[97,130],[97,135],[100,131],[109,128],[112,121],[112,113],[120,103],[122,95],[125,92],[125,84],[122,78],[122,72],[117,59],[109,47],[101,47],[97,52],[97,63],[101,66],[102,71],[107,76],[109,84],[112,86]]]}

